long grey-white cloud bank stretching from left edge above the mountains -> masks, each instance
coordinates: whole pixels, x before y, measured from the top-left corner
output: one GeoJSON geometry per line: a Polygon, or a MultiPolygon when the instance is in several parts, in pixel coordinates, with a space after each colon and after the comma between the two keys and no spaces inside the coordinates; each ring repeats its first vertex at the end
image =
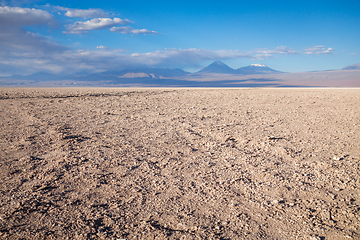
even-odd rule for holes
{"type": "MultiPolygon", "coordinates": [[[[322,49],[327,51],[328,48],[322,49]]],[[[331,49],[329,50],[331,51],[331,49]]],[[[127,54],[122,49],[69,50],[37,34],[16,31],[0,25],[0,72],[2,74],[31,74],[39,71],[75,73],[107,71],[136,67],[197,68],[206,61],[226,59],[268,59],[275,54],[290,54],[293,50],[279,47],[274,50],[207,50],[164,49],[148,53],[127,54]],[[9,37],[12,36],[12,37],[9,37]]]]}

